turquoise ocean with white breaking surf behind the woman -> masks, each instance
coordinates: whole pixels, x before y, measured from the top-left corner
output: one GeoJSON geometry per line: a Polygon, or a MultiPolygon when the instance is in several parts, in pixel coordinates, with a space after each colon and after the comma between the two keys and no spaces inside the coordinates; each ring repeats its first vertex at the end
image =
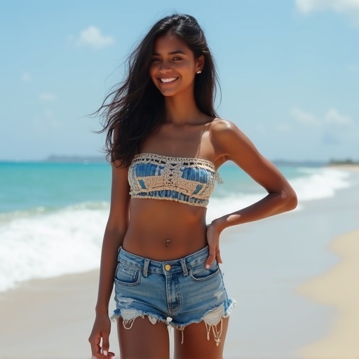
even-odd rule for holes
{"type": "MultiPolygon", "coordinates": [[[[335,196],[351,187],[351,174],[313,165],[278,165],[307,201],[335,196]]],[[[266,195],[248,175],[229,163],[219,168],[207,222],[266,195]]],[[[24,280],[81,273],[100,266],[109,214],[108,163],[0,163],[0,291],[24,280]]]]}

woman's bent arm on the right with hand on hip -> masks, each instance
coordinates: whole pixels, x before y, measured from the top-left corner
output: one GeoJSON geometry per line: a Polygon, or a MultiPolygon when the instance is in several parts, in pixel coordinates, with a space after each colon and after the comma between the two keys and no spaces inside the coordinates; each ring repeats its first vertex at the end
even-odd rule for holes
{"type": "Polygon", "coordinates": [[[268,195],[252,205],[214,219],[207,229],[210,255],[206,266],[215,259],[222,263],[219,251],[219,235],[229,226],[257,221],[279,213],[293,210],[297,196],[273,163],[268,161],[255,145],[230,121],[216,120],[210,131],[211,141],[221,162],[233,161],[259,183],[268,195]]]}

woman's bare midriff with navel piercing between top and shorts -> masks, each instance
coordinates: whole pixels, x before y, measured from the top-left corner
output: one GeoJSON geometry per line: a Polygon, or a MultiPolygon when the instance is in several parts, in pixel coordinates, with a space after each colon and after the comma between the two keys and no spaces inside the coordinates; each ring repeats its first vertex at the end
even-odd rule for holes
{"type": "Polygon", "coordinates": [[[207,245],[205,213],[176,201],[131,198],[123,249],[161,262],[186,257],[207,245]]]}

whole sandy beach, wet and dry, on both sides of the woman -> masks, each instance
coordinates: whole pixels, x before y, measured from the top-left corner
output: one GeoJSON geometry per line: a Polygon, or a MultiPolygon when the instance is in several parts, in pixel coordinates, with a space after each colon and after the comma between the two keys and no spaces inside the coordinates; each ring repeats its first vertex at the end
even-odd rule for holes
{"type": "MultiPolygon", "coordinates": [[[[224,281],[237,301],[224,358],[359,358],[358,203],[352,171],[335,196],[222,233],[224,281]]],[[[90,358],[97,279],[94,270],[0,292],[0,358],[90,358]]],[[[119,358],[114,323],[110,345],[119,358]]]]}

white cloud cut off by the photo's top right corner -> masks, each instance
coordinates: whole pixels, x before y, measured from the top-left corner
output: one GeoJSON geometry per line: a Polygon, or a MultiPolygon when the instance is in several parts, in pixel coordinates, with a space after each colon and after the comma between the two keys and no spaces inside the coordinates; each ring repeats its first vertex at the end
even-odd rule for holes
{"type": "Polygon", "coordinates": [[[304,14],[330,9],[351,16],[359,24],[359,0],[295,0],[295,4],[304,14]]]}

